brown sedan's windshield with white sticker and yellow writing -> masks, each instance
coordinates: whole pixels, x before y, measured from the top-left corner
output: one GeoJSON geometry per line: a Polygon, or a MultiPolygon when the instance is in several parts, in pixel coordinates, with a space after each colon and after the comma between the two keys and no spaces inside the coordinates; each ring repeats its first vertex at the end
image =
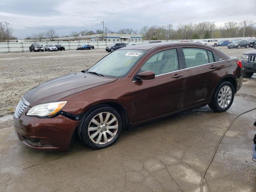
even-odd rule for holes
{"type": "Polygon", "coordinates": [[[124,77],[146,51],[116,50],[102,58],[88,72],[104,76],[124,77]]]}

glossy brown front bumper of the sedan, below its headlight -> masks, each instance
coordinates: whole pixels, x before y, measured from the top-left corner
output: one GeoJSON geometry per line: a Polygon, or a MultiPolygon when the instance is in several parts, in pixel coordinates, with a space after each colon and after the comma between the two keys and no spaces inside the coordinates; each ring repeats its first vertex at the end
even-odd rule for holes
{"type": "Polygon", "coordinates": [[[62,115],[53,118],[26,116],[28,108],[19,118],[14,117],[15,133],[20,141],[36,149],[68,150],[80,121],[62,115]]]}

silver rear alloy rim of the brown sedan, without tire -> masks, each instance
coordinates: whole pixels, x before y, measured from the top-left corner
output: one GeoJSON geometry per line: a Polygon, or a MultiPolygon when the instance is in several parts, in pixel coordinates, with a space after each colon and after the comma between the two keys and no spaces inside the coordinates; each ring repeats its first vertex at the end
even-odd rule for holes
{"type": "Polygon", "coordinates": [[[218,93],[218,104],[219,106],[224,109],[229,106],[232,100],[232,90],[230,86],[225,85],[220,89],[218,93]]]}

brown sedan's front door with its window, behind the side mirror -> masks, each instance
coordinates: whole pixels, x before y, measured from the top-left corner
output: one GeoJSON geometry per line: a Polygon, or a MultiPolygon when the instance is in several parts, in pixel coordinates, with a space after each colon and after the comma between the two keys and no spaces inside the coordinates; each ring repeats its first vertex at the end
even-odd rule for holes
{"type": "Polygon", "coordinates": [[[134,123],[169,114],[183,108],[186,75],[178,47],[164,48],[150,54],[130,79],[134,123]],[[136,80],[141,71],[153,71],[155,78],[136,80]]]}

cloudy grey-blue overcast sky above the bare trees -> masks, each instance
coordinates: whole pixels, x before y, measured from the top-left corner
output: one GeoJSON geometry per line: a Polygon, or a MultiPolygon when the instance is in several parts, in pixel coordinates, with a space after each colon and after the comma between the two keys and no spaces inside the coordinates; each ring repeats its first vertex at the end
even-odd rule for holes
{"type": "MultiPolygon", "coordinates": [[[[118,28],[138,29],[142,26],[198,23],[215,21],[223,25],[228,21],[256,21],[256,0],[0,0],[0,21],[8,22],[14,36],[44,30],[22,28],[75,28],[106,24],[118,28]]],[[[106,26],[110,30],[118,28],[106,26]]],[[[56,30],[58,35],[72,31],[102,29],[102,25],[72,30],[56,30]]]]}

